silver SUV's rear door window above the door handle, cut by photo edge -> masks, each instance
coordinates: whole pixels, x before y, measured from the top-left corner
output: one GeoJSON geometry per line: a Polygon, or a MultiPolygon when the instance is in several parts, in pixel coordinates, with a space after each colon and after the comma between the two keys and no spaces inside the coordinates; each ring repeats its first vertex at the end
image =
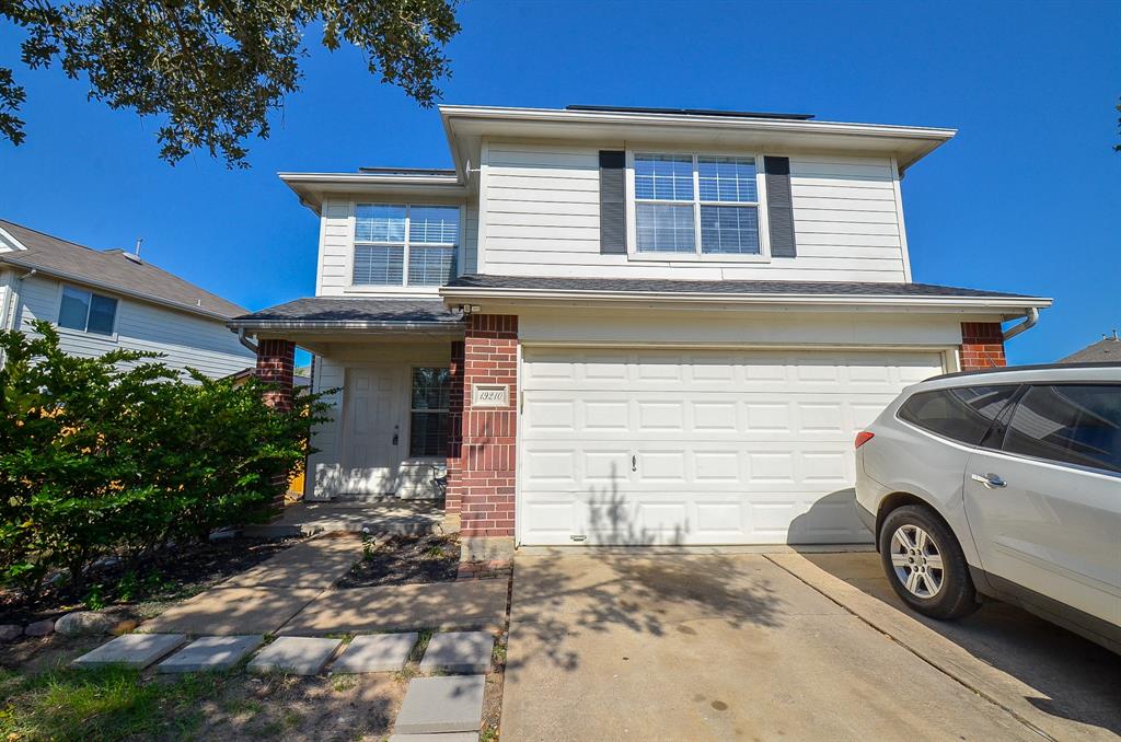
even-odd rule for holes
{"type": "Polygon", "coordinates": [[[1121,472],[1121,386],[1031,386],[1012,412],[1002,447],[1121,472]]]}

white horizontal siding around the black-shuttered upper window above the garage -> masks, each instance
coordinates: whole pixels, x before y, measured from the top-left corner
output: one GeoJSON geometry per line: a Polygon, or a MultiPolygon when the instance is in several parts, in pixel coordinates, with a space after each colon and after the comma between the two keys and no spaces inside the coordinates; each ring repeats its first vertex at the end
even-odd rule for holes
{"type": "MultiPolygon", "coordinates": [[[[619,142],[604,143],[605,148],[619,142]]],[[[673,151],[666,146],[641,147],[673,151]]],[[[779,154],[779,152],[776,152],[779,154]]],[[[599,148],[489,142],[484,272],[678,279],[906,280],[895,165],[790,157],[797,258],[771,262],[632,260],[600,252],[599,148]]]]}

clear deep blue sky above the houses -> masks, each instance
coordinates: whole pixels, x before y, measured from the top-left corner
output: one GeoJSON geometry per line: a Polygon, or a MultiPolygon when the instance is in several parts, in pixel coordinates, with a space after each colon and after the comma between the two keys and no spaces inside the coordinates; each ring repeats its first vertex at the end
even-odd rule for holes
{"type": "MultiPolygon", "coordinates": [[[[450,103],[725,108],[953,127],[904,180],[917,281],[1055,298],[1009,344],[1046,362],[1121,327],[1121,3],[466,2],[450,103]]],[[[129,248],[257,309],[315,288],[317,224],[278,170],[448,166],[439,118],[309,35],[303,92],[248,171],[157,158],[156,122],[30,72],[0,216],[129,248]]]]}

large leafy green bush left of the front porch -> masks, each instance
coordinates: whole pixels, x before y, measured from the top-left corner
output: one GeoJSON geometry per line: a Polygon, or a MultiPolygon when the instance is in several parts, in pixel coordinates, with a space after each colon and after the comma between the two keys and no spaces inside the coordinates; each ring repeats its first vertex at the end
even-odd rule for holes
{"type": "Polygon", "coordinates": [[[47,323],[0,333],[0,582],[34,600],[65,569],[138,564],[168,542],[267,519],[324,419],[321,395],[269,407],[270,387],[191,372],[158,355],[68,355],[47,323]]]}

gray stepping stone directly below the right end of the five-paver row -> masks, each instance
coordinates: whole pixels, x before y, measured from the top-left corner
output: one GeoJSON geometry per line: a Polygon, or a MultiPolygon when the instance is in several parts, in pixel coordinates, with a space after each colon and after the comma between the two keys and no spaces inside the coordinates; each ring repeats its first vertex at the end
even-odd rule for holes
{"type": "MultiPolygon", "coordinates": [[[[474,732],[483,720],[482,675],[414,678],[397,712],[393,733],[474,732]]],[[[408,738],[406,738],[408,739],[408,738]]]]}

